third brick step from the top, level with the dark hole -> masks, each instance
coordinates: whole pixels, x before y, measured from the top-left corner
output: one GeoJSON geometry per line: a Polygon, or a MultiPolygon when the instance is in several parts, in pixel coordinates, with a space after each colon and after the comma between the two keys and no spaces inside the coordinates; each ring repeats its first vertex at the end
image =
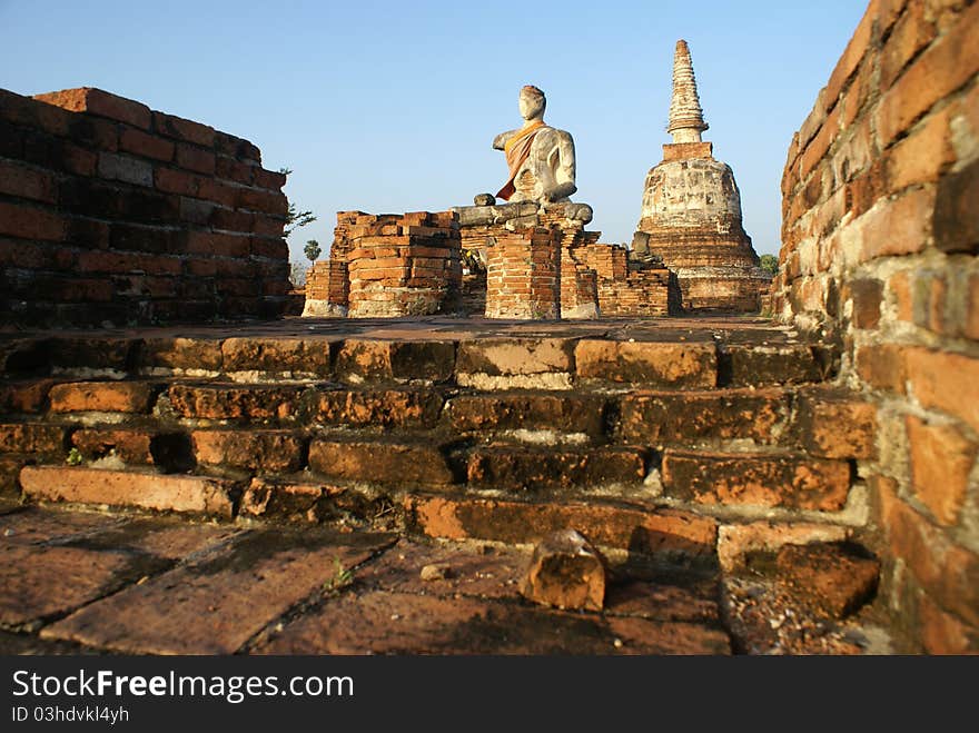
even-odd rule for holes
{"type": "Polygon", "coordinates": [[[95,462],[95,456],[87,456],[85,466],[66,466],[63,453],[58,455],[53,448],[47,454],[0,456],[8,489],[19,472],[20,487],[30,496],[22,479],[32,465],[62,470],[66,478],[73,478],[76,469],[78,475],[125,469],[161,481],[189,477],[175,470],[182,468],[194,470],[200,481],[214,477],[238,484],[253,478],[301,483],[306,476],[395,494],[416,489],[540,497],[600,494],[663,497],[691,506],[840,512],[854,483],[851,460],[780,448],[740,453],[668,448],[657,453],[641,446],[435,444],[390,436],[358,439],[356,435],[306,437],[279,429],[207,429],[192,432],[180,445],[164,443],[172,450],[166,454],[159,437],[139,444],[123,432],[128,442],[113,445],[109,430],[99,434],[86,428],[77,435],[111,448],[95,462]],[[156,473],[150,474],[154,468],[156,473]]]}

